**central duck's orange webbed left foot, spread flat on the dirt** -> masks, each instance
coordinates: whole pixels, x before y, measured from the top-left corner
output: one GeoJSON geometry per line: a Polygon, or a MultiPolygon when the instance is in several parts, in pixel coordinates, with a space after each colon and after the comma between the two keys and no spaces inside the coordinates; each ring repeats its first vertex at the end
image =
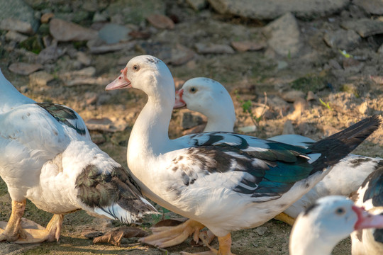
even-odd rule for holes
{"type": "Polygon", "coordinates": [[[181,244],[191,234],[193,234],[194,242],[198,243],[199,230],[205,226],[195,220],[187,220],[186,222],[176,227],[155,227],[152,228],[152,232],[148,237],[140,238],[138,241],[146,244],[158,246],[160,248],[166,248],[181,244]]]}

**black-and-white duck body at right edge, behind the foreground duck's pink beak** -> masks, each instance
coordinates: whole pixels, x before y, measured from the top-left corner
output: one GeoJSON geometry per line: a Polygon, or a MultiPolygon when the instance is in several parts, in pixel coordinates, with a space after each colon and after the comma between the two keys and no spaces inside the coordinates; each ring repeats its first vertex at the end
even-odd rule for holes
{"type": "MultiPolygon", "coordinates": [[[[383,166],[372,172],[350,198],[372,215],[383,215],[383,166]]],[[[351,254],[383,254],[383,229],[357,229],[351,234],[351,254]]]]}

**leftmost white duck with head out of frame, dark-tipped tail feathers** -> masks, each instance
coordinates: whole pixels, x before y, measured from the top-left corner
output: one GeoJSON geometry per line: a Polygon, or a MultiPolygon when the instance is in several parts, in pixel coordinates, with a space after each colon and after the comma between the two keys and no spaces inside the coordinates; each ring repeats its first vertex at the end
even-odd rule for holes
{"type": "Polygon", "coordinates": [[[91,141],[79,114],[24,96],[1,70],[0,176],[12,205],[0,241],[58,242],[64,216],[77,210],[127,224],[157,213],[128,171],[91,141]],[[23,227],[26,199],[54,214],[46,228],[23,227]]]}

